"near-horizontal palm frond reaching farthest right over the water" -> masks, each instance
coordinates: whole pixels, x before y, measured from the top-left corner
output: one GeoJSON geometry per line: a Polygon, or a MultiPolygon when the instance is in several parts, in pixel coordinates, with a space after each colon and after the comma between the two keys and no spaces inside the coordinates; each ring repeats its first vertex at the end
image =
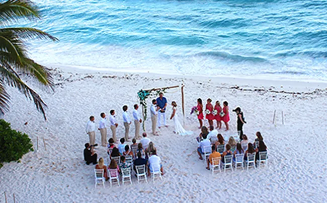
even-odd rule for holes
{"type": "Polygon", "coordinates": [[[51,39],[52,41],[58,41],[57,38],[51,36],[50,34],[35,28],[3,28],[0,29],[0,33],[1,32],[12,32],[21,39],[39,38],[39,39],[51,39]]]}

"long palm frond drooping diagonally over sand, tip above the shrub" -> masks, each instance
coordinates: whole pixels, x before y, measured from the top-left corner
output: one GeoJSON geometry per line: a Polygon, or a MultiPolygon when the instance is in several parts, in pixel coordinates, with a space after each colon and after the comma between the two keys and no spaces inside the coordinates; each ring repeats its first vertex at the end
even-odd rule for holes
{"type": "Polygon", "coordinates": [[[22,79],[19,77],[17,72],[13,69],[13,67],[10,64],[3,62],[3,64],[0,65],[0,75],[3,77],[2,80],[7,82],[9,86],[17,88],[27,98],[33,100],[37,110],[41,111],[45,120],[47,119],[44,110],[47,107],[47,105],[44,103],[44,101],[41,99],[38,93],[36,93],[33,89],[31,89],[28,85],[26,85],[22,81],[22,79]]]}

